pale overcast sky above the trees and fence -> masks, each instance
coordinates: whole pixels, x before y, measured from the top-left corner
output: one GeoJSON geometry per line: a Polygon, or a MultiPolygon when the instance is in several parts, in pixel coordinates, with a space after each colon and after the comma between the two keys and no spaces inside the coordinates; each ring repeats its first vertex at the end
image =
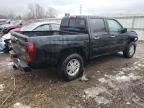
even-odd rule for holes
{"type": "Polygon", "coordinates": [[[13,12],[16,15],[24,15],[30,3],[38,3],[45,9],[53,7],[59,16],[64,16],[64,13],[78,15],[80,4],[84,15],[144,12],[144,0],[0,0],[0,14],[13,12]]]}

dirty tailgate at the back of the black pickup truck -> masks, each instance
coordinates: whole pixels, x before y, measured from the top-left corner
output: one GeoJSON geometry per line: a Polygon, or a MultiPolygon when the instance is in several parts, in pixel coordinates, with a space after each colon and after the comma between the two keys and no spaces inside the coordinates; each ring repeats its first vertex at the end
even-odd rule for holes
{"type": "Polygon", "coordinates": [[[26,61],[25,44],[28,41],[28,37],[18,31],[12,31],[11,35],[13,52],[16,54],[17,58],[26,61]]]}

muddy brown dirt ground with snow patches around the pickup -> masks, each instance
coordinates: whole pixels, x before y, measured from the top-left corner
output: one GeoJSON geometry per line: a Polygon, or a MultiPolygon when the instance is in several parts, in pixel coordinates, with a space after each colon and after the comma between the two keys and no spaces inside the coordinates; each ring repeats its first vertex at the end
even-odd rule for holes
{"type": "Polygon", "coordinates": [[[135,56],[100,57],[85,66],[84,80],[61,81],[55,69],[14,71],[0,54],[1,108],[144,108],[144,43],[135,56]]]}

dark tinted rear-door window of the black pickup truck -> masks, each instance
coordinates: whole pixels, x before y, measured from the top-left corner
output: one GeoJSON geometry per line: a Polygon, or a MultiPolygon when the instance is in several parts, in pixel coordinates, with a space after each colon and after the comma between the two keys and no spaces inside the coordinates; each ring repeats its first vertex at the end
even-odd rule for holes
{"type": "Polygon", "coordinates": [[[104,20],[102,18],[90,19],[90,27],[92,33],[106,32],[104,20]]]}

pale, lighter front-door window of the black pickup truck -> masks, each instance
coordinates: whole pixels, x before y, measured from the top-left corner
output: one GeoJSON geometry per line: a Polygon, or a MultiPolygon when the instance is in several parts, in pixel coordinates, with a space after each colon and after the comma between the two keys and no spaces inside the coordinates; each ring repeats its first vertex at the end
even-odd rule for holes
{"type": "Polygon", "coordinates": [[[122,29],[122,26],[115,20],[110,19],[107,22],[110,32],[118,32],[122,29]]]}

